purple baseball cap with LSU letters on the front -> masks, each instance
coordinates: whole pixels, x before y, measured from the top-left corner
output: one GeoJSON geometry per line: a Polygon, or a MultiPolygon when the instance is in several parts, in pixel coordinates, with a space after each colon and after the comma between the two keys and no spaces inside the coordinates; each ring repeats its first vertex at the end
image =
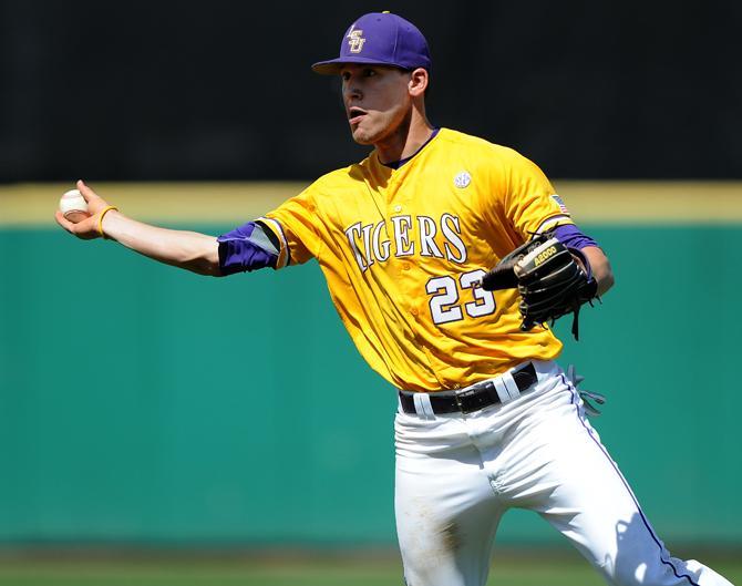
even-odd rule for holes
{"type": "Polygon", "coordinates": [[[346,31],[340,56],[315,63],[311,69],[323,75],[340,73],[344,63],[393,65],[405,70],[424,68],[432,62],[427,41],[412,22],[391,12],[363,14],[346,31]]]}

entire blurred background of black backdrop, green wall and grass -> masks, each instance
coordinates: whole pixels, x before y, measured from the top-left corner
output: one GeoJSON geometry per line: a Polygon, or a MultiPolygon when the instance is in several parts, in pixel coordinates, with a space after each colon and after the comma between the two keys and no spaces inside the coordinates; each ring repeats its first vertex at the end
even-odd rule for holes
{"type": "MultiPolygon", "coordinates": [[[[316,264],[212,280],[52,219],[84,177],[219,234],[362,158],[309,65],[379,10],[430,42],[432,122],[537,162],[608,251],[561,362],[670,548],[742,579],[742,4],[0,0],[0,584],[400,583],[394,390],[316,264]]],[[[498,584],[555,552],[599,583],[535,515],[497,544],[498,584]]]]}

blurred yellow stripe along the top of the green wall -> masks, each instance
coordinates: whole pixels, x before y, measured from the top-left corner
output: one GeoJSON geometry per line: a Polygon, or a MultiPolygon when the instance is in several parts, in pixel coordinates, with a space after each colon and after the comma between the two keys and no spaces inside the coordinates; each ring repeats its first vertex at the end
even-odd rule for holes
{"type": "MultiPolygon", "coordinates": [[[[241,224],[292,197],[307,183],[94,183],[132,217],[178,225],[241,224]]],[[[0,186],[0,226],[55,226],[70,184],[0,186]]],[[[742,224],[742,182],[557,181],[577,223],[742,224]]]]}

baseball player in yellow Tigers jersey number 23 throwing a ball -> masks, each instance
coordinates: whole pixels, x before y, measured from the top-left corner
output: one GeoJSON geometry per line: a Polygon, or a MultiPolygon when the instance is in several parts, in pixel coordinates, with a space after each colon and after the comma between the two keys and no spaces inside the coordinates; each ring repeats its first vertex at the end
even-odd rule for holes
{"type": "Polygon", "coordinates": [[[609,584],[729,586],[670,556],[555,362],[542,322],[574,312],[576,326],[614,278],[542,171],[430,123],[427,43],[399,16],[361,17],[312,69],[340,75],[352,137],[373,147],[360,163],[218,238],[136,222],[82,182],[92,217],[59,224],[203,275],[317,259],[359,351],[399,390],[409,586],[484,585],[511,507],[536,511],[609,584]]]}

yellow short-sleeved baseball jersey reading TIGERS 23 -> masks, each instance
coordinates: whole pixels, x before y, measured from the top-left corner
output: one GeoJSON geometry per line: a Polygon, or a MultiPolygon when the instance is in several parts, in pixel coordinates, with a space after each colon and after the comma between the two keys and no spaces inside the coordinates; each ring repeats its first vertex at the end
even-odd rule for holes
{"type": "Polygon", "coordinates": [[[442,128],[400,168],[373,152],[260,219],[277,268],[317,258],[359,351],[400,389],[463,388],[561,350],[547,328],[521,331],[515,289],[475,286],[532,233],[571,223],[511,148],[442,128]]]}

